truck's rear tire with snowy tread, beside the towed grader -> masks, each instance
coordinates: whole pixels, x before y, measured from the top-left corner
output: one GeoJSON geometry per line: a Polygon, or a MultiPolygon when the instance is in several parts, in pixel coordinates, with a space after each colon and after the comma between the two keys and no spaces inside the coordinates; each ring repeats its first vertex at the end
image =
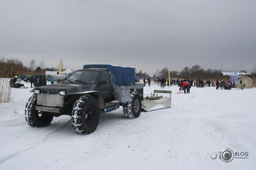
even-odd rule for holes
{"type": "Polygon", "coordinates": [[[141,98],[139,93],[131,92],[130,101],[123,104],[125,118],[134,119],[140,116],[141,98]]]}

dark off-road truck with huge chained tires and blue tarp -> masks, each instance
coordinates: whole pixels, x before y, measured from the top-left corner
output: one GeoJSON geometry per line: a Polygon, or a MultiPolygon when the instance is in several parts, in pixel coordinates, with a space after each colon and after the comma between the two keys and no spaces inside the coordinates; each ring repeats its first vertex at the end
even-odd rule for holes
{"type": "Polygon", "coordinates": [[[71,116],[78,134],[90,134],[100,116],[123,107],[126,118],[140,116],[144,84],[135,84],[135,69],[128,66],[84,65],[62,83],[33,89],[25,106],[32,127],[49,125],[53,117],[71,116]]]}

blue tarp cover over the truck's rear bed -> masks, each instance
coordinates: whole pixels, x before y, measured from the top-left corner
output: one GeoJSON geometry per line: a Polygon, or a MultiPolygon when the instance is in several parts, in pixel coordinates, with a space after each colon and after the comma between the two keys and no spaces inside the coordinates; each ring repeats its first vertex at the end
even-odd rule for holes
{"type": "Polygon", "coordinates": [[[120,87],[131,86],[135,84],[135,68],[118,65],[84,65],[86,68],[107,68],[115,77],[115,84],[120,87]]]}

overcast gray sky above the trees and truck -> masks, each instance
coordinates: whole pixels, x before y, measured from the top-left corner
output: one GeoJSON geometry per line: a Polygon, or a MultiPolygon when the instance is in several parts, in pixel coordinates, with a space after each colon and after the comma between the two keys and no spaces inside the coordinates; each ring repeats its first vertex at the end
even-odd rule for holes
{"type": "Polygon", "coordinates": [[[256,68],[255,0],[1,0],[0,57],[25,66],[256,68]]]}

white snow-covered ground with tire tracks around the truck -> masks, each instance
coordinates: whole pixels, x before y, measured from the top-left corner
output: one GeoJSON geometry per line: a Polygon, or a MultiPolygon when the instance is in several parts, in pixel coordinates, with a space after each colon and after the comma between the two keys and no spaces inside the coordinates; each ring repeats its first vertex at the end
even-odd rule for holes
{"type": "MultiPolygon", "coordinates": [[[[12,89],[13,102],[0,103],[1,170],[256,169],[256,88],[192,87],[178,94],[177,86],[165,87],[171,108],[125,119],[120,107],[95,132],[78,135],[65,115],[30,127],[24,107],[32,93],[24,84],[29,88],[12,89]],[[230,163],[206,156],[224,148],[248,155],[230,163]]],[[[145,87],[144,94],[154,89],[160,87],[145,87]]]]}

